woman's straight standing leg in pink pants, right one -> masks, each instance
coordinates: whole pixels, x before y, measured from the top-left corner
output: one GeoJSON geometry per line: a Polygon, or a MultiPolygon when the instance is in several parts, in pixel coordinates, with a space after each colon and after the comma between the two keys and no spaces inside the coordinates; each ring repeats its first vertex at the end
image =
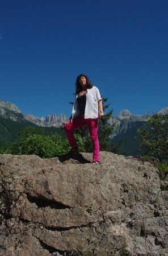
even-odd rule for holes
{"type": "Polygon", "coordinates": [[[87,126],[89,128],[89,133],[91,137],[91,142],[93,146],[93,160],[99,161],[99,139],[98,139],[98,118],[96,119],[85,119],[87,126]]]}

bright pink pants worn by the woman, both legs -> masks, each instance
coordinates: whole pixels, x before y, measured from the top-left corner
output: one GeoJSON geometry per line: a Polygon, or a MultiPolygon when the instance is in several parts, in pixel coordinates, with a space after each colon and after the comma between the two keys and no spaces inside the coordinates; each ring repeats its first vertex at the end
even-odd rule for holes
{"type": "Polygon", "coordinates": [[[91,137],[91,142],[93,146],[93,160],[99,161],[99,140],[98,140],[98,118],[85,119],[84,115],[79,115],[72,119],[72,123],[65,123],[64,130],[68,137],[68,141],[71,147],[77,147],[77,142],[75,141],[73,130],[82,127],[83,125],[87,125],[89,128],[89,133],[91,137]]]}

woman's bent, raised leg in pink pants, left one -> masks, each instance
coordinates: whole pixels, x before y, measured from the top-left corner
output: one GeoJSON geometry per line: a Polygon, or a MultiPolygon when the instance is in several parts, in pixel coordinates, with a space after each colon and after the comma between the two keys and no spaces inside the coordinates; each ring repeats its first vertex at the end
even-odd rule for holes
{"type": "Polygon", "coordinates": [[[68,137],[68,141],[69,141],[69,144],[71,147],[78,146],[78,144],[74,138],[73,130],[78,129],[78,128],[82,127],[83,125],[85,125],[84,115],[79,115],[78,117],[73,118],[72,123],[71,122],[65,123],[64,130],[68,137]]]}

